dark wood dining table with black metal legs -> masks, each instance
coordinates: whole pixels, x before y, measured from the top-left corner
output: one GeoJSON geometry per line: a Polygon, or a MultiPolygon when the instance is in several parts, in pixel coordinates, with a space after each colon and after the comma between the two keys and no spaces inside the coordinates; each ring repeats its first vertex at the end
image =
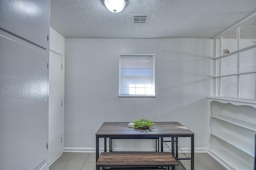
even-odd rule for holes
{"type": "MultiPolygon", "coordinates": [[[[161,152],[163,143],[171,142],[171,153],[176,160],[190,160],[191,170],[194,170],[194,132],[178,122],[154,122],[155,126],[148,129],[128,127],[130,122],[104,122],[96,132],[96,162],[99,158],[99,139],[104,138],[104,152],[107,152],[107,138],[115,139],[148,139],[160,138],[161,152]],[[191,146],[190,158],[178,157],[178,138],[189,137],[191,146]],[[164,138],[171,140],[164,140],[164,138]]],[[[184,168],[184,167],[183,167],[184,168]]],[[[96,169],[97,170],[97,169],[96,169]]]]}

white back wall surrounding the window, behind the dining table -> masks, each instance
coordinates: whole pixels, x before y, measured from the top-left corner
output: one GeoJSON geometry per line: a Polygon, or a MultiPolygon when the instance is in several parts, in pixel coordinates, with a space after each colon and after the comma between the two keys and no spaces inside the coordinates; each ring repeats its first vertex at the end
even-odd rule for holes
{"type": "MultiPolygon", "coordinates": [[[[206,151],[212,47],[210,39],[66,38],[65,150],[95,151],[95,133],[104,121],[131,122],[145,113],[190,128],[196,151],[206,151]],[[127,54],[155,54],[156,98],[118,98],[119,55],[127,54]]],[[[115,147],[154,147],[134,144],[119,141],[115,147]]],[[[179,144],[188,148],[190,140],[179,144]]]]}

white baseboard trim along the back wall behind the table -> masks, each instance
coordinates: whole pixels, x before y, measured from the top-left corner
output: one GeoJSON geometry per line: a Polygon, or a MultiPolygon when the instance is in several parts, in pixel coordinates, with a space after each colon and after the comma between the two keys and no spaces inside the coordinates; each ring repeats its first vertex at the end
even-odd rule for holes
{"type": "MultiPolygon", "coordinates": [[[[184,153],[190,153],[190,148],[181,148],[184,153]]],[[[109,151],[109,148],[107,148],[107,151],[109,151]]],[[[123,152],[132,152],[132,151],[137,151],[137,152],[149,152],[152,151],[154,152],[154,148],[113,148],[113,151],[123,151],[123,152]]],[[[169,150],[167,148],[164,149],[164,152],[168,152],[169,150]]],[[[64,148],[64,152],[96,152],[96,148],[64,148]]],[[[100,152],[104,152],[104,148],[100,148],[100,152]]],[[[178,152],[181,152],[178,150],[178,152]]],[[[208,148],[195,148],[195,153],[207,153],[208,148]]]]}

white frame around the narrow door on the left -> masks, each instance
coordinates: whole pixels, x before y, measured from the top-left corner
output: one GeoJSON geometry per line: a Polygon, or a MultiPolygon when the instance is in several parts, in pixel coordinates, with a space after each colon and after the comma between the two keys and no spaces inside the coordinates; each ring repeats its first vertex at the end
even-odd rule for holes
{"type": "MultiPolygon", "coordinates": [[[[64,152],[64,138],[65,138],[65,136],[64,136],[64,108],[65,108],[65,95],[64,95],[64,87],[65,87],[65,56],[64,56],[64,54],[62,54],[62,52],[60,52],[60,51],[58,51],[58,50],[56,50],[56,49],[52,49],[52,48],[50,48],[50,50],[49,50],[49,57],[50,57],[50,51],[52,51],[53,53],[56,53],[56,54],[58,54],[58,55],[60,55],[61,56],[61,60],[62,60],[62,113],[61,113],[61,117],[62,117],[62,119],[61,119],[61,125],[62,125],[62,127],[61,127],[61,136],[62,136],[62,146],[61,146],[61,154],[59,155],[59,156],[57,156],[57,158],[55,158],[52,162],[49,162],[49,166],[53,163],[53,162],[55,162],[55,160],[56,159],[58,159],[62,154],[63,154],[63,152],[64,152]]],[[[51,67],[50,65],[49,65],[49,67],[51,67]]],[[[49,125],[48,125],[48,127],[49,127],[49,125]]]]}

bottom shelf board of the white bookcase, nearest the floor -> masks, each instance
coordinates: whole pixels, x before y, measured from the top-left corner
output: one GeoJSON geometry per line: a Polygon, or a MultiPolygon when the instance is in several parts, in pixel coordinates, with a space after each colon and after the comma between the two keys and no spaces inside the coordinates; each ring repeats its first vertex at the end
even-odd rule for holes
{"type": "Polygon", "coordinates": [[[253,165],[248,164],[248,162],[241,160],[234,155],[227,154],[226,150],[216,148],[211,148],[210,150],[236,170],[252,170],[253,168],[253,165]]]}

